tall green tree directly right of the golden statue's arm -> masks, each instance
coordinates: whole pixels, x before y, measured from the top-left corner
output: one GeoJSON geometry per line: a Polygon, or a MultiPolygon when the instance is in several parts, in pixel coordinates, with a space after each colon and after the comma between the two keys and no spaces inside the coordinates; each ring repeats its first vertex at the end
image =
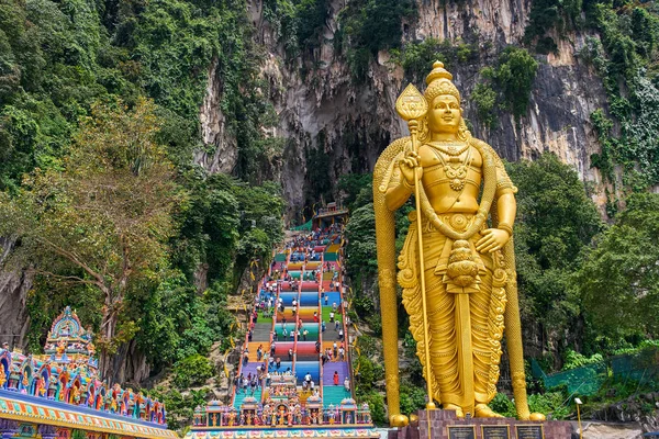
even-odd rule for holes
{"type": "Polygon", "coordinates": [[[577,172],[554,154],[507,169],[518,188],[515,255],[523,318],[539,323],[549,337],[580,316],[570,277],[602,221],[577,172]]]}

